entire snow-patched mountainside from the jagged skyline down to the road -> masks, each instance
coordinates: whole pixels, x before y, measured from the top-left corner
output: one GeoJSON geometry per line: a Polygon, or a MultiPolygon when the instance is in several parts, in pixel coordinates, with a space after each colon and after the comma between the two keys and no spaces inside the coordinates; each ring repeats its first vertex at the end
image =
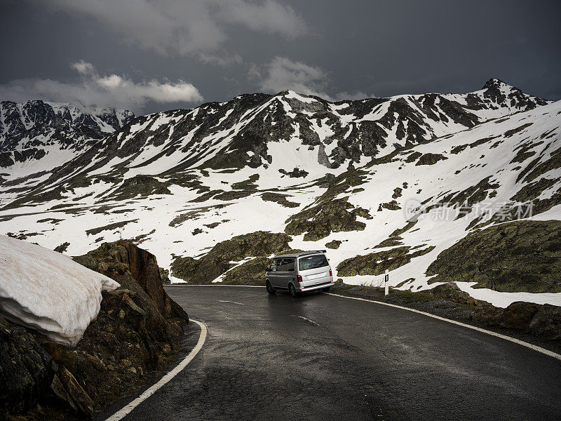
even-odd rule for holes
{"type": "MultiPolygon", "coordinates": [[[[233,236],[284,232],[292,248],[327,244],[346,282],[375,283],[390,269],[392,286],[423,290],[462,268],[444,264],[459,241],[482,250],[484,234],[513,244],[556,232],[560,126],[561,102],[497,79],[467,94],[358,101],[241,95],[139,117],[53,171],[22,177],[6,168],[0,232],[50,248],[69,243],[72,255],[123,236],[164,267],[233,236]],[[534,234],[501,231],[518,229],[519,218],[534,234]]],[[[555,238],[546,237],[553,259],[555,238]]],[[[454,275],[472,295],[561,304],[559,279],[511,285],[496,250],[480,254],[489,261],[472,256],[479,269],[454,275]],[[487,265],[503,271],[500,284],[487,265]]]]}

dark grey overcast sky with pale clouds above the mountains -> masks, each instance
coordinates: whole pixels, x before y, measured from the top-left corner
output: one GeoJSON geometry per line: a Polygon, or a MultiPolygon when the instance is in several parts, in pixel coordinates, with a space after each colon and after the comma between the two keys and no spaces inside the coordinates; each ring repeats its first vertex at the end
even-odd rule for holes
{"type": "Polygon", "coordinates": [[[561,99],[561,1],[0,0],[0,100],[137,114],[292,89],[561,99]]]}

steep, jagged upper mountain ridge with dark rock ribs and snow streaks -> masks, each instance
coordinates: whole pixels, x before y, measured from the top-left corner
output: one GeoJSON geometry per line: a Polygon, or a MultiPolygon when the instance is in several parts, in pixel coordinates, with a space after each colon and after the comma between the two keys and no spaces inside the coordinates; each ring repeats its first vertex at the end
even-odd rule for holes
{"type": "Polygon", "coordinates": [[[292,91],[240,95],[229,102],[140,117],[96,145],[88,170],[136,168],[135,173],[155,174],[190,168],[276,166],[284,164],[274,156],[283,142],[290,142],[289,148],[297,152],[310,151],[296,154],[301,157],[295,165],[360,165],[396,148],[546,103],[497,79],[467,94],[340,102],[292,91]]]}

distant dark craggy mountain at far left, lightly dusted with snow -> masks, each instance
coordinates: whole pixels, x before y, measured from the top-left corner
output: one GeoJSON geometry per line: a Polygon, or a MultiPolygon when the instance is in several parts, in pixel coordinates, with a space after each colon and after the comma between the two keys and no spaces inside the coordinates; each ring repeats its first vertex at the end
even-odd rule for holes
{"type": "Polygon", "coordinates": [[[1,101],[0,168],[18,167],[49,154],[45,161],[53,168],[134,118],[133,112],[124,109],[1,101]]]}

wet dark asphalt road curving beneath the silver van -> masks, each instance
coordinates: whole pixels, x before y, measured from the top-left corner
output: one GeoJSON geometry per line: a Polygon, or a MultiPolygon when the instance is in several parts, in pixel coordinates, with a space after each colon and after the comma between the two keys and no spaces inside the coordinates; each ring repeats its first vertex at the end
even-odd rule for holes
{"type": "Polygon", "coordinates": [[[208,338],[125,420],[561,420],[561,362],[500,338],[325,294],[166,290],[208,338]]]}

